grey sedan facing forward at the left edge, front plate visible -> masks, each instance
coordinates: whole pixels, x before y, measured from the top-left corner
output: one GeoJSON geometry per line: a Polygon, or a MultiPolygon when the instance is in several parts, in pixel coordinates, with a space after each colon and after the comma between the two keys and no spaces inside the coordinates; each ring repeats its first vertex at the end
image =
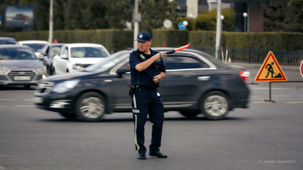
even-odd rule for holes
{"type": "Polygon", "coordinates": [[[0,45],[0,85],[30,87],[45,74],[44,65],[28,46],[0,45]]]}

